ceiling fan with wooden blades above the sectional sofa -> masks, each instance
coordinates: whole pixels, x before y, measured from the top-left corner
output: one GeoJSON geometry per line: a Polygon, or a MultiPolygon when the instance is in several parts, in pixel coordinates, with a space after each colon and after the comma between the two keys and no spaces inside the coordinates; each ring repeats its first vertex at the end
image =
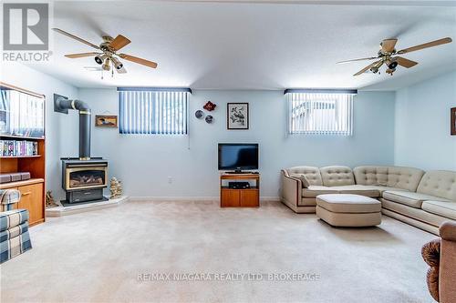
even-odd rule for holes
{"type": "Polygon", "coordinates": [[[380,50],[378,51],[377,56],[341,61],[341,62],[337,62],[337,64],[350,63],[350,62],[363,61],[363,60],[377,60],[374,63],[364,67],[357,74],[355,74],[353,76],[359,76],[365,72],[368,72],[369,70],[374,74],[379,74],[379,68],[380,68],[380,66],[383,66],[384,64],[388,67],[386,70],[387,74],[392,76],[393,73],[396,71],[397,66],[404,66],[404,67],[410,68],[410,67],[418,65],[418,62],[411,61],[409,59],[406,59],[404,57],[397,56],[397,55],[407,54],[407,53],[411,53],[411,52],[414,52],[414,51],[417,51],[417,50],[420,50],[423,48],[433,47],[433,46],[437,46],[437,45],[444,45],[447,43],[451,43],[451,41],[452,40],[450,37],[446,37],[446,38],[442,38],[439,40],[424,43],[422,45],[415,45],[415,46],[411,46],[409,48],[404,48],[404,49],[397,51],[395,46],[396,46],[396,43],[398,42],[398,39],[394,39],[394,38],[385,39],[380,43],[380,50]]]}

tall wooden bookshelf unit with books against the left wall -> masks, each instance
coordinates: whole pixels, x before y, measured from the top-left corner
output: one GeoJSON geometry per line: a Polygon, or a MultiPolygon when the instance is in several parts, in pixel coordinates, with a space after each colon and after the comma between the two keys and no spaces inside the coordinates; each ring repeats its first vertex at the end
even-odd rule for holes
{"type": "MultiPolygon", "coordinates": [[[[2,98],[0,100],[0,103],[2,104],[1,106],[5,106],[6,104],[8,106],[11,106],[12,108],[8,109],[7,111],[4,110],[4,114],[0,113],[0,123],[2,121],[8,121],[7,119],[9,118],[9,116],[7,115],[15,115],[14,110],[15,108],[18,108],[17,106],[13,106],[13,103],[16,102],[16,96],[20,96],[21,100],[24,100],[26,98],[27,101],[30,100],[30,102],[35,103],[42,102],[43,104],[43,106],[33,106],[36,108],[36,111],[40,111],[38,113],[34,113],[34,121],[36,121],[37,126],[42,128],[35,126],[34,130],[31,132],[34,135],[38,133],[37,136],[20,136],[16,135],[16,133],[8,133],[8,127],[10,126],[8,126],[7,123],[3,123],[3,126],[6,125],[6,129],[2,129],[2,133],[0,134],[0,140],[4,142],[26,141],[32,142],[36,146],[36,150],[34,150],[33,155],[24,155],[27,154],[26,152],[24,152],[24,150],[22,150],[22,152],[16,152],[15,154],[5,156],[2,156],[4,154],[0,153],[1,174],[10,174],[17,172],[30,173],[30,179],[2,183],[0,184],[0,189],[15,188],[21,192],[21,200],[18,204],[16,204],[16,208],[26,208],[29,212],[29,225],[34,226],[45,221],[46,137],[44,136],[44,120],[46,100],[45,96],[43,95],[39,95],[28,90],[18,88],[16,86],[9,86],[2,82],[0,82],[0,89],[2,91],[8,91],[8,93],[10,93],[9,96],[11,96],[10,99],[8,99],[8,95],[2,92],[3,94],[0,96],[2,98]],[[36,132],[36,129],[39,129],[39,132],[36,132]]],[[[25,119],[28,118],[29,116],[25,117],[25,119]]],[[[22,128],[19,128],[19,130],[22,130],[22,128]]],[[[27,129],[26,131],[24,131],[24,133],[28,133],[27,129]]],[[[18,144],[17,146],[19,148],[21,147],[20,144],[18,144]]]]}

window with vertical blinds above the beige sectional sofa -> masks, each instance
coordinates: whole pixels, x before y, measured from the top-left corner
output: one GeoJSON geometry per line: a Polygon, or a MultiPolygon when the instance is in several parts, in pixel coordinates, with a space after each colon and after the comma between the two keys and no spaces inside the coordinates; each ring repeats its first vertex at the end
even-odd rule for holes
{"type": "Polygon", "coordinates": [[[353,135],[356,90],[287,89],[288,134],[353,135]]]}

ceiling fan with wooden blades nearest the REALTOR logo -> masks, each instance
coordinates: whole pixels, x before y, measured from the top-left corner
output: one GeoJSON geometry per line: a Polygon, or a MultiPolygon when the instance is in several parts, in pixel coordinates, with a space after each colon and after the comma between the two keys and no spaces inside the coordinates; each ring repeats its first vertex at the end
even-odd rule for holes
{"type": "MultiPolygon", "coordinates": [[[[125,59],[131,62],[138,63],[142,66],[149,66],[151,68],[156,68],[157,63],[139,58],[137,56],[130,56],[127,54],[117,54],[117,52],[120,50],[120,48],[124,47],[125,45],[130,44],[130,40],[126,38],[123,35],[117,35],[115,38],[112,38],[109,35],[104,35],[103,42],[100,45],[94,45],[87,40],[84,40],[82,38],[79,38],[76,35],[72,35],[67,33],[64,30],[61,30],[59,28],[53,28],[54,31],[61,35],[67,35],[68,37],[75,39],[85,45],[89,45],[98,51],[95,52],[90,52],[90,53],[80,53],[80,54],[69,54],[65,55],[68,58],[82,58],[82,57],[87,57],[87,56],[95,56],[95,62],[98,63],[98,65],[101,66],[101,68],[105,71],[111,70],[111,66],[114,66],[116,71],[119,74],[125,74],[127,73],[127,70],[123,66],[123,64],[120,62],[119,58],[125,59]]],[[[114,69],[112,69],[112,72],[114,73],[114,69]]]]}

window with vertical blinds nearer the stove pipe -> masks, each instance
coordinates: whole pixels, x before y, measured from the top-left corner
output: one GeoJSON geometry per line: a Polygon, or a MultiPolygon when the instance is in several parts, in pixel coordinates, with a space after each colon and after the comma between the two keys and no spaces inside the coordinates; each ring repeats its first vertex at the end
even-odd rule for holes
{"type": "Polygon", "coordinates": [[[186,135],[190,88],[119,87],[120,134],[186,135]]]}

